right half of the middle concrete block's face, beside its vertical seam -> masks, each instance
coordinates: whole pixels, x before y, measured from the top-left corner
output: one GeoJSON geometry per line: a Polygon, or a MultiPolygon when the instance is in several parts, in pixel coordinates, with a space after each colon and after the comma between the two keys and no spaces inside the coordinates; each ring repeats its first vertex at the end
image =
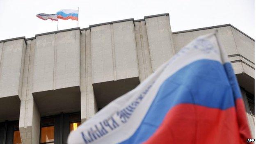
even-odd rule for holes
{"type": "Polygon", "coordinates": [[[113,23],[116,80],[139,76],[133,21],[113,23]]]}

